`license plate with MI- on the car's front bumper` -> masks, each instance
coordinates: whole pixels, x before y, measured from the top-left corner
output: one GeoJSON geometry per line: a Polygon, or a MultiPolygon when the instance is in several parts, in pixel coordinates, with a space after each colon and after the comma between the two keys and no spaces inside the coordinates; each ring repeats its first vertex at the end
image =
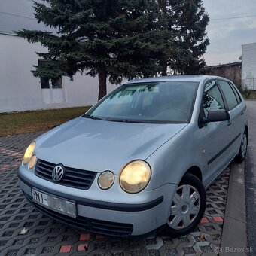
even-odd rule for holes
{"type": "Polygon", "coordinates": [[[62,213],[75,218],[77,216],[75,203],[64,200],[59,197],[54,197],[50,194],[42,193],[41,191],[32,188],[32,199],[35,203],[40,203],[42,206],[52,209],[55,212],[62,213]]]}

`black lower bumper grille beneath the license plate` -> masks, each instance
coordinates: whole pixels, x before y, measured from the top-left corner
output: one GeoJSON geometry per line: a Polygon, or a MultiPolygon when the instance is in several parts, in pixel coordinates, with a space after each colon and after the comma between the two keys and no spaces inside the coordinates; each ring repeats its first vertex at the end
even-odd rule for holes
{"type": "Polygon", "coordinates": [[[93,233],[99,233],[105,236],[120,236],[126,237],[130,236],[133,232],[133,224],[123,224],[117,222],[110,221],[100,221],[93,218],[85,218],[82,216],[78,216],[76,218],[72,218],[66,215],[62,215],[58,212],[54,212],[50,209],[44,208],[44,206],[39,205],[38,203],[34,203],[32,198],[29,197],[28,194],[25,194],[27,200],[29,200],[32,205],[38,209],[40,212],[43,212],[44,215],[49,216],[50,218],[55,219],[56,221],[60,221],[64,224],[68,224],[69,226],[87,230],[93,233]]]}

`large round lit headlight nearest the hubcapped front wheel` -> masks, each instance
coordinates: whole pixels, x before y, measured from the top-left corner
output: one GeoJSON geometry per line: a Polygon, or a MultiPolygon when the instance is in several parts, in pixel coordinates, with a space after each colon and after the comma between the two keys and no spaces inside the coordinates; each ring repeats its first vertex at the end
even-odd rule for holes
{"type": "Polygon", "coordinates": [[[143,190],[151,178],[151,168],[145,161],[135,160],[128,163],[120,174],[120,186],[128,193],[143,190]]]}

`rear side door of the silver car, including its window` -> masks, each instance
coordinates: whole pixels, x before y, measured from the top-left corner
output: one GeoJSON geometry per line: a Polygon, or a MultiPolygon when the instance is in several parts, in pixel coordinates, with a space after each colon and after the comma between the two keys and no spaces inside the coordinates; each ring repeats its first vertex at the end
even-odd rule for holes
{"type": "Polygon", "coordinates": [[[217,83],[223,92],[224,101],[226,102],[227,110],[230,114],[230,127],[232,133],[230,151],[232,151],[232,156],[234,157],[239,150],[242,133],[245,129],[244,105],[242,104],[239,94],[236,92],[236,88],[233,87],[233,84],[224,80],[218,80],[217,83]]]}

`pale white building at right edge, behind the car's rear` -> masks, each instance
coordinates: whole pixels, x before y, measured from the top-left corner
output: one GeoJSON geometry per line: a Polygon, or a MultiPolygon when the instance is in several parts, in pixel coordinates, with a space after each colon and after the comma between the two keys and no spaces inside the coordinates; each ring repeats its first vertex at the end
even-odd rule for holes
{"type": "Polygon", "coordinates": [[[242,86],[256,90],[256,43],[242,45],[242,86]]]}

